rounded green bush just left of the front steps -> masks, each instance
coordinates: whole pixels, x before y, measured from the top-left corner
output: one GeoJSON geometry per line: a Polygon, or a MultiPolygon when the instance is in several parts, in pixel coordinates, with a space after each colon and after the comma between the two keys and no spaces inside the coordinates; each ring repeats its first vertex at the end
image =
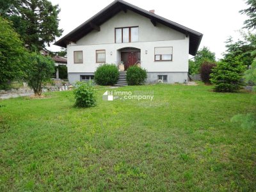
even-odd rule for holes
{"type": "Polygon", "coordinates": [[[104,64],[97,68],[94,74],[95,83],[113,85],[118,81],[119,72],[114,64],[104,64]]]}

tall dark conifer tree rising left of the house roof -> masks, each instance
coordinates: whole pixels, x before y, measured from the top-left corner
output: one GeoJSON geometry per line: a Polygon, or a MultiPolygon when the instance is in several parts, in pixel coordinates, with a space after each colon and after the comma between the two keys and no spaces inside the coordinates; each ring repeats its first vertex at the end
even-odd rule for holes
{"type": "Polygon", "coordinates": [[[61,36],[62,29],[58,29],[58,5],[52,5],[47,0],[1,0],[8,5],[4,8],[6,18],[12,20],[13,27],[24,40],[26,46],[31,51],[41,51],[45,49],[45,44],[55,40],[56,36],[61,36]]]}

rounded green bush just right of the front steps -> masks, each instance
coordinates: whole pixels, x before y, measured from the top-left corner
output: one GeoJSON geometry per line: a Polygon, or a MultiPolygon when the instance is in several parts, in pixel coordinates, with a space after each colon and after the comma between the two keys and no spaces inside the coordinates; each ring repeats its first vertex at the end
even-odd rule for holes
{"type": "Polygon", "coordinates": [[[139,85],[145,83],[147,79],[147,70],[136,65],[127,69],[126,81],[129,85],[139,85]]]}

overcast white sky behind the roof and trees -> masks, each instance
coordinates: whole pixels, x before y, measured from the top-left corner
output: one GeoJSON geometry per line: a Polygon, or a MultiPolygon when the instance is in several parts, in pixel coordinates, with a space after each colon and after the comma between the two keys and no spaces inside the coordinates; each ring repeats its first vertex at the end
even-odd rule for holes
{"type": "MultiPolygon", "coordinates": [[[[52,4],[59,4],[60,28],[63,35],[93,17],[113,0],[50,0],[52,4]]],[[[246,15],[241,15],[239,10],[248,7],[244,0],[126,0],[144,10],[155,10],[157,15],[172,20],[203,33],[199,49],[206,46],[216,53],[216,58],[222,58],[225,52],[225,41],[229,36],[234,40],[240,37],[239,30],[243,28],[246,15]]],[[[61,37],[62,37],[61,36],[61,37]]],[[[61,38],[60,37],[60,38],[61,38]]],[[[56,40],[60,39],[56,38],[56,40]]],[[[60,51],[60,47],[51,45],[52,51],[60,51]]]]}

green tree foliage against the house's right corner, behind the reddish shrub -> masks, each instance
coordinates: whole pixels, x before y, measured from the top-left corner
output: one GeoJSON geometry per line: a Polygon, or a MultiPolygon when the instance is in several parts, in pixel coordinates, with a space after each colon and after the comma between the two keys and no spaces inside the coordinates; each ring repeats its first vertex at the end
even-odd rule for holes
{"type": "Polygon", "coordinates": [[[194,61],[189,60],[189,74],[198,74],[200,67],[204,61],[211,63],[216,62],[215,53],[211,52],[208,47],[200,49],[194,58],[194,61]]]}

